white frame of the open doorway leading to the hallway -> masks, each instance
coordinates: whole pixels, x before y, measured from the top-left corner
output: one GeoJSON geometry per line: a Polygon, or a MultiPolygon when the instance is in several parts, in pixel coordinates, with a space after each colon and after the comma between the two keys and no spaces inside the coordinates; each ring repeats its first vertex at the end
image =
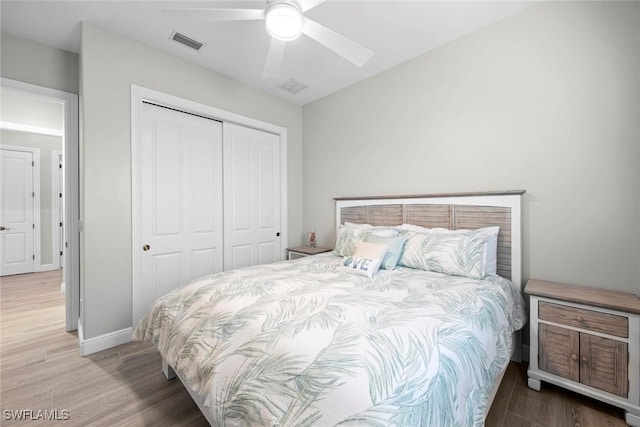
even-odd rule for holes
{"type": "Polygon", "coordinates": [[[64,111],[64,194],[65,197],[65,329],[75,331],[80,312],[80,163],[78,135],[78,95],[2,77],[2,90],[39,97],[62,104],[64,111]],[[73,213],[73,214],[72,214],[73,213]]]}

